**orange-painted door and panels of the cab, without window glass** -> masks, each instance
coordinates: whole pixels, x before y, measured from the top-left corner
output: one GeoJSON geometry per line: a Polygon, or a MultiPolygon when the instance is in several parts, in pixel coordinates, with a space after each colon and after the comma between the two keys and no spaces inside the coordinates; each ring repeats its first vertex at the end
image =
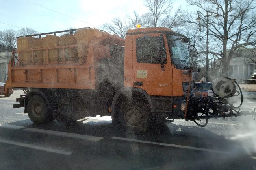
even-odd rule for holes
{"type": "Polygon", "coordinates": [[[136,28],[127,31],[124,62],[125,86],[141,88],[152,96],[184,95],[182,82],[189,82],[189,75],[183,74],[183,72],[188,71],[188,69],[176,69],[172,64],[172,56],[169,52],[166,37],[166,34],[172,33],[175,32],[164,27],[136,28]],[[163,37],[166,55],[166,61],[163,64],[164,69],[161,68],[160,63],[141,63],[137,61],[136,40],[145,36],[163,37]]]}

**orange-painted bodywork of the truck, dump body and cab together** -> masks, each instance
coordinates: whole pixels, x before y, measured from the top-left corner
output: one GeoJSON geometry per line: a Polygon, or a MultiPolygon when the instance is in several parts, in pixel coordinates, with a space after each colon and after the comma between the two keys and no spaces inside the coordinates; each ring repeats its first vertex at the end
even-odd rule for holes
{"type": "MultiPolygon", "coordinates": [[[[183,74],[183,72],[186,72],[188,68],[185,70],[177,69],[172,63],[171,58],[173,56],[170,53],[171,49],[169,49],[167,40],[167,35],[175,34],[171,29],[164,27],[129,29],[125,41],[117,35],[110,35],[97,29],[88,29],[88,33],[79,31],[77,35],[73,36],[77,38],[77,44],[65,46],[58,44],[58,46],[37,49],[28,49],[28,45],[26,50],[15,51],[19,54],[21,63],[18,66],[9,63],[7,86],[10,88],[95,89],[96,69],[99,67],[99,61],[103,58],[111,58],[110,45],[117,44],[118,46],[125,46],[124,87],[141,88],[150,96],[184,95],[182,82],[188,82],[189,75],[183,74]],[[91,35],[92,33],[95,36],[91,35]],[[80,36],[78,37],[78,35],[80,36]],[[85,36],[85,38],[81,36],[85,36]],[[138,53],[147,57],[143,54],[145,51],[139,49],[141,44],[138,44],[139,40],[143,42],[144,39],[147,40],[147,37],[155,38],[163,43],[163,49],[161,49],[164,51],[161,55],[165,56],[163,64],[159,60],[147,63],[143,61],[143,57],[138,59],[138,53]],[[76,51],[76,56],[72,56],[70,61],[67,61],[69,58],[65,53],[67,49],[76,51]],[[51,59],[49,52],[51,50],[58,51],[56,53],[58,56],[51,59]],[[34,57],[37,51],[45,54],[42,64],[35,62],[34,57]],[[26,54],[29,54],[31,58],[29,64],[26,64],[26,58],[28,58],[28,56],[24,56],[26,54]],[[26,62],[22,63],[22,58],[25,58],[24,61],[26,62]],[[51,60],[55,62],[51,64],[51,60]]],[[[151,52],[154,53],[157,50],[159,49],[152,49],[151,52]]]]}

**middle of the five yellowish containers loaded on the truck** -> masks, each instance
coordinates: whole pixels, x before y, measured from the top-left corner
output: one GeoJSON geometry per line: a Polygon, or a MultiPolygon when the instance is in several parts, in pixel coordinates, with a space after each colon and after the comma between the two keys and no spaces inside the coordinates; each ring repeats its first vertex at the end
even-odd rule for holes
{"type": "MultiPolygon", "coordinates": [[[[43,37],[42,48],[58,47],[59,37],[56,35],[46,35],[43,37]]],[[[59,49],[48,49],[49,64],[59,63],[59,49]]],[[[48,64],[46,50],[43,50],[43,64],[48,64]]]]}

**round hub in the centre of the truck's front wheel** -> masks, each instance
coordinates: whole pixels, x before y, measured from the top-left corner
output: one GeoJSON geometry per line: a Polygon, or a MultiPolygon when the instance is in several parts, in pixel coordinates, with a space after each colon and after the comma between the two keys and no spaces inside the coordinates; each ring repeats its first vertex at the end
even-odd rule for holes
{"type": "Polygon", "coordinates": [[[142,114],[136,108],[130,108],[125,115],[126,122],[131,126],[139,126],[142,122],[142,114]]]}

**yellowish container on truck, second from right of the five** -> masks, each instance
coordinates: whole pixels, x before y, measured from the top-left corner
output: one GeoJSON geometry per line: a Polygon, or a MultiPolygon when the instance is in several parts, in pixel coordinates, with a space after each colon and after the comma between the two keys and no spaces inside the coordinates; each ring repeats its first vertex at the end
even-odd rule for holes
{"type": "MultiPolygon", "coordinates": [[[[64,34],[59,37],[59,46],[76,45],[74,34],[64,34]]],[[[77,47],[64,48],[65,61],[70,63],[77,62],[77,47]]],[[[59,49],[59,60],[63,62],[63,48],[59,49]]]]}

